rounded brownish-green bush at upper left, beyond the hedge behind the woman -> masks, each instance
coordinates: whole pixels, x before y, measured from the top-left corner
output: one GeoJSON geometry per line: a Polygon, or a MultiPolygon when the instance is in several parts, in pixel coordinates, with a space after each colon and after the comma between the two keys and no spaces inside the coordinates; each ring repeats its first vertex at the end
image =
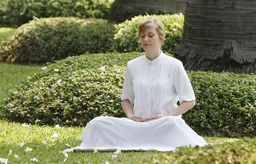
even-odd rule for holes
{"type": "Polygon", "coordinates": [[[102,19],[35,18],[0,46],[0,61],[43,64],[67,56],[113,49],[114,26],[102,19]]]}

